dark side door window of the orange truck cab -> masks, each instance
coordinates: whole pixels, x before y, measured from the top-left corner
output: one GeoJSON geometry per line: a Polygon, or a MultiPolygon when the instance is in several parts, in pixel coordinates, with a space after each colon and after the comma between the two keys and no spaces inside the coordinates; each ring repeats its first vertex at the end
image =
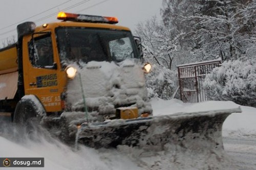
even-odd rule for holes
{"type": "Polygon", "coordinates": [[[34,67],[53,65],[52,39],[48,36],[36,37],[29,42],[30,62],[34,67]]]}

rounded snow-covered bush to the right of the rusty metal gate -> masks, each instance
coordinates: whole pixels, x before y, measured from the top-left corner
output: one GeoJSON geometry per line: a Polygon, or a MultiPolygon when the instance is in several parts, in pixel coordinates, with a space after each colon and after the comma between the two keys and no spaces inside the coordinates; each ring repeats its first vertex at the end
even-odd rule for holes
{"type": "Polygon", "coordinates": [[[256,62],[225,61],[206,76],[204,89],[211,100],[256,106],[256,62]]]}

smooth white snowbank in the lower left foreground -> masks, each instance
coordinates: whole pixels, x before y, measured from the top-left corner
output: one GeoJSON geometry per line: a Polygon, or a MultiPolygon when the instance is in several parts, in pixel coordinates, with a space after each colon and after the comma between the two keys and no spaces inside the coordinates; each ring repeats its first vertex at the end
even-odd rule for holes
{"type": "MultiPolygon", "coordinates": [[[[1,144],[5,147],[0,149],[2,156],[10,157],[44,157],[45,169],[140,169],[125,156],[118,157],[111,151],[102,155],[99,151],[81,146],[79,151],[74,151],[67,145],[56,140],[47,141],[40,138],[40,142],[26,140],[23,143],[14,143],[6,138],[0,137],[1,144]],[[113,158],[113,159],[111,159],[113,158]],[[124,167],[122,167],[124,166],[124,167]]],[[[9,167],[12,169],[12,167],[9,167]]],[[[15,167],[13,168],[15,169],[15,167]]],[[[28,169],[28,167],[19,167],[28,169]]],[[[40,167],[29,167],[29,169],[41,169],[40,167]]]]}

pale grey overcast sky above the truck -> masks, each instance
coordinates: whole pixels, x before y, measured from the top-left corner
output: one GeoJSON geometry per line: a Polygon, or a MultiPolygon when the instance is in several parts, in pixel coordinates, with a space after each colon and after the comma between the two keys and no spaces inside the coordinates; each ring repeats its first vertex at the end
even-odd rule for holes
{"type": "Polygon", "coordinates": [[[116,16],[118,25],[132,31],[137,23],[156,15],[160,17],[162,0],[1,0],[0,46],[6,38],[16,36],[16,26],[25,21],[36,25],[56,21],[56,13],[116,16]]]}

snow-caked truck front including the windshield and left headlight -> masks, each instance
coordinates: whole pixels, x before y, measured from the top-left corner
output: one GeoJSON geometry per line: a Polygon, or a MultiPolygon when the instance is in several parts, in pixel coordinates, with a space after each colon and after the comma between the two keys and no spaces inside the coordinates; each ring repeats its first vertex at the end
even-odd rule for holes
{"type": "Polygon", "coordinates": [[[61,66],[70,78],[66,111],[88,111],[97,121],[152,113],[130,31],[59,27],[56,37],[61,66]]]}

